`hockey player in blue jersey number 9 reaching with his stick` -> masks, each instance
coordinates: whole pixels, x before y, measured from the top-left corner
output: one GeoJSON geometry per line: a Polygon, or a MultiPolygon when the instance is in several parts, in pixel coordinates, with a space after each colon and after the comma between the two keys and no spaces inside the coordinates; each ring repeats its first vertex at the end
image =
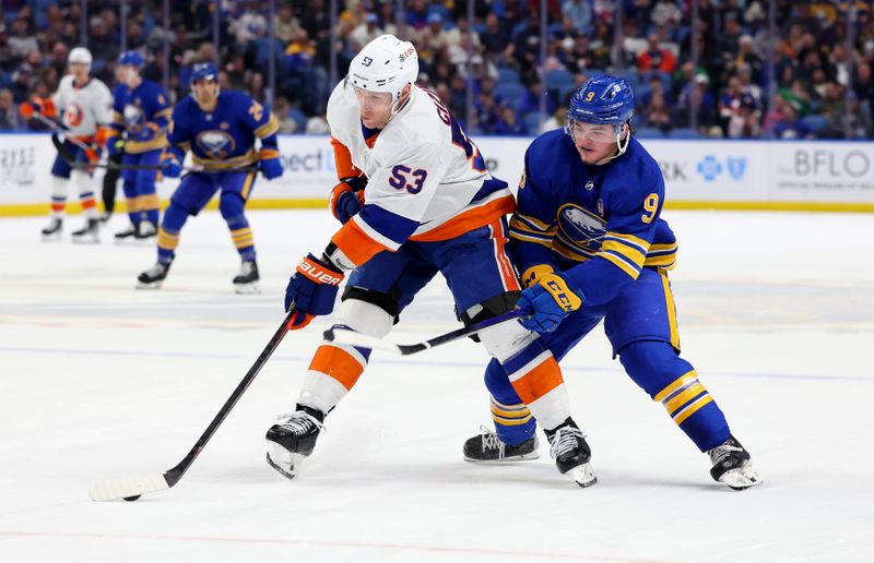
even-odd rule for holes
{"type": "MultiPolygon", "coordinates": [[[[664,180],[631,136],[628,83],[594,76],[572,96],[566,129],[525,153],[510,248],[522,272],[522,324],[563,358],[604,319],[628,375],[707,452],[713,479],[733,489],[760,482],[749,454],[695,369],[680,357],[666,269],[676,244],[660,218],[664,180]]],[[[486,370],[496,433],[464,444],[471,462],[536,457],[535,420],[494,360],[486,370]]]]}

